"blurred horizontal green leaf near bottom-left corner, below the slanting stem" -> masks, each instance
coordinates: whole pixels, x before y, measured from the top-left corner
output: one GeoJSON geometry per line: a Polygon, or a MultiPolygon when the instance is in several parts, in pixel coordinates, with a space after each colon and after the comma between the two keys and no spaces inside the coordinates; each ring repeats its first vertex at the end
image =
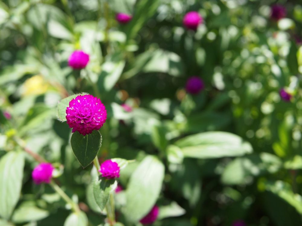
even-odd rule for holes
{"type": "Polygon", "coordinates": [[[37,206],[27,204],[24,202],[14,211],[12,221],[14,223],[23,223],[28,221],[38,221],[48,217],[49,212],[44,209],[40,209],[37,206]]]}

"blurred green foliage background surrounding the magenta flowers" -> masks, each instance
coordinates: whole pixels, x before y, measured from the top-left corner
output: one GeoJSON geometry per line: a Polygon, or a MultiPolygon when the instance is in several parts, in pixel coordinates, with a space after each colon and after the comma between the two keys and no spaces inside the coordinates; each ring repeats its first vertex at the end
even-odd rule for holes
{"type": "Polygon", "coordinates": [[[302,225],[301,23],[301,1],[0,2],[0,225],[108,225],[95,168],[81,167],[61,122],[62,99],[83,92],[108,112],[100,162],[135,159],[118,179],[116,226],[140,225],[155,203],[155,226],[302,225]],[[278,22],[275,3],[287,8],[278,22]],[[204,17],[196,32],[182,25],[192,10],[204,17]],[[133,19],[119,25],[117,12],[133,19]],[[90,55],[81,71],[67,65],[75,49],[90,55]],[[196,96],[184,89],[193,75],[205,82],[196,96]],[[33,153],[79,214],[34,185],[33,153]]]}

